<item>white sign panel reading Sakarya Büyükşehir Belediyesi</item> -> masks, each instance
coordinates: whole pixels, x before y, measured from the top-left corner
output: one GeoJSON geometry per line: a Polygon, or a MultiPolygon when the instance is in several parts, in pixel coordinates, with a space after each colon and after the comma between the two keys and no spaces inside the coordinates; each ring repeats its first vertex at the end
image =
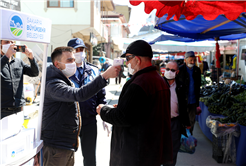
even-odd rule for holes
{"type": "Polygon", "coordinates": [[[0,8],[0,39],[50,43],[51,20],[0,8]]]}

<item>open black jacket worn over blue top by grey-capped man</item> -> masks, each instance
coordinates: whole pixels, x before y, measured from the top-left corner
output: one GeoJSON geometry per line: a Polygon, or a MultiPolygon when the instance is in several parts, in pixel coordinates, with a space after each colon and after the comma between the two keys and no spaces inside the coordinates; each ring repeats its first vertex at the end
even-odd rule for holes
{"type": "MultiPolygon", "coordinates": [[[[199,106],[199,98],[200,98],[200,86],[201,86],[201,70],[199,67],[193,67],[193,79],[194,79],[194,90],[195,90],[195,97],[196,97],[196,106],[199,106]]],[[[179,68],[179,74],[177,75],[177,80],[183,82],[186,88],[186,101],[188,101],[188,93],[189,93],[189,84],[190,78],[189,73],[187,71],[186,64],[183,64],[179,68]]]]}

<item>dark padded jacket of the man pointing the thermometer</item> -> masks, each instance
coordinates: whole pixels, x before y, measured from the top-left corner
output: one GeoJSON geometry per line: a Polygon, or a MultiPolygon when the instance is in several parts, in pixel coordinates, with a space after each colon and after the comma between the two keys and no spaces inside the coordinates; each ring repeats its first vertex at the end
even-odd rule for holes
{"type": "Polygon", "coordinates": [[[47,68],[41,139],[44,145],[76,151],[81,127],[78,104],[106,86],[106,80],[98,76],[81,88],[72,87],[72,82],[55,66],[47,68]]]}

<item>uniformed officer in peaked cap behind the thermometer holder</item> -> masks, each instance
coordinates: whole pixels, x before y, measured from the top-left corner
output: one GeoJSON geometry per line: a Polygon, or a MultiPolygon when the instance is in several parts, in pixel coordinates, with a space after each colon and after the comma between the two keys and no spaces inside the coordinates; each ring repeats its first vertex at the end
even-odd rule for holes
{"type": "MultiPolygon", "coordinates": [[[[76,50],[75,63],[76,73],[70,77],[76,88],[88,84],[100,74],[97,66],[85,62],[87,48],[80,38],[71,39],[68,46],[76,50]]],[[[96,166],[96,139],[97,139],[97,121],[96,107],[99,104],[105,104],[105,89],[102,89],[92,98],[80,102],[80,113],[82,117],[82,128],[80,132],[80,142],[82,155],[84,157],[84,166],[96,166]]]]}

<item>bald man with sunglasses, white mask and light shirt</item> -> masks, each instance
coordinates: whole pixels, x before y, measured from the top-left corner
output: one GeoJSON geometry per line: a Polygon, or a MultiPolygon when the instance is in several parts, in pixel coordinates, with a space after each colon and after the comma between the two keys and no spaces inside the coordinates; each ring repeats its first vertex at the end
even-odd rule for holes
{"type": "Polygon", "coordinates": [[[178,63],[169,61],[166,65],[164,79],[168,82],[171,92],[171,130],[173,142],[173,163],[164,166],[174,166],[180,148],[181,134],[186,135],[185,128],[190,128],[189,115],[187,112],[187,100],[185,97],[185,86],[176,80],[179,73],[178,63]]]}

